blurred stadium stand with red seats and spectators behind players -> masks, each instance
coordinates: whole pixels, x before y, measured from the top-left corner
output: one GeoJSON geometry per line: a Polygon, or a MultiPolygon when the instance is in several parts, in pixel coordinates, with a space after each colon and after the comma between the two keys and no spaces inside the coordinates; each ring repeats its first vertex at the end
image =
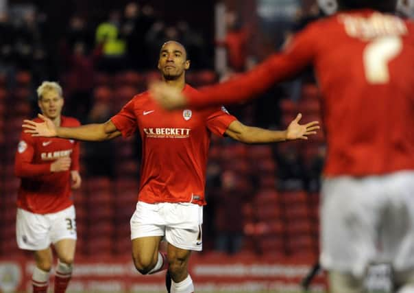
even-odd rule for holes
{"type": "MultiPolygon", "coordinates": [[[[62,85],[64,115],[77,117],[82,124],[99,123],[159,78],[156,62],[166,40],[186,46],[191,59],[186,80],[201,87],[254,67],[319,16],[313,0],[0,0],[0,291],[10,278],[14,280],[10,275],[3,277],[12,270],[1,270],[1,260],[19,260],[16,266],[25,266],[19,288],[25,287],[25,274],[32,266],[32,255],[15,243],[19,178],[13,175],[13,164],[21,123],[39,111],[35,90],[43,80],[62,85]]],[[[313,72],[308,70],[254,101],[227,108],[252,126],[284,129],[300,112],[302,122],[319,120],[323,128],[318,95],[313,72]]],[[[82,143],[81,148],[83,183],[73,194],[77,260],[88,263],[98,257],[129,263],[129,220],[140,178],[140,138],[82,143]]],[[[242,289],[276,291],[289,282],[297,286],[294,290],[300,289],[300,280],[317,263],[324,156],[323,131],[308,141],[273,145],[243,145],[213,137],[204,251],[195,255],[193,266],[212,259],[217,259],[217,266],[263,265],[263,274],[252,274],[252,268],[245,274],[228,275],[226,282],[256,276],[252,281],[262,285],[242,289]],[[292,266],[297,271],[289,275],[292,266]]],[[[196,286],[197,278],[199,283],[212,278],[208,270],[192,270],[196,286]]],[[[133,278],[147,282],[132,269],[129,274],[129,267],[127,272],[132,276],[126,285],[131,292],[133,278]]],[[[82,276],[79,273],[81,289],[82,276]]],[[[76,272],[74,278],[72,290],[77,288],[76,272]]],[[[315,288],[324,290],[321,280],[315,288]]],[[[162,281],[156,283],[159,288],[154,285],[154,290],[162,288],[162,281]]],[[[145,291],[137,288],[136,292],[145,291]]]]}

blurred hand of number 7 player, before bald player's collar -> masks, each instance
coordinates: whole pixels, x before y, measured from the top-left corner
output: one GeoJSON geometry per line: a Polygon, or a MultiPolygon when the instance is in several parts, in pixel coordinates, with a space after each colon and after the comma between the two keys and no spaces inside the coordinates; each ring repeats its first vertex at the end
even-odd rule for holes
{"type": "Polygon", "coordinates": [[[149,86],[152,98],[167,110],[184,108],[186,98],[179,89],[165,84],[165,82],[154,82],[149,86]]]}

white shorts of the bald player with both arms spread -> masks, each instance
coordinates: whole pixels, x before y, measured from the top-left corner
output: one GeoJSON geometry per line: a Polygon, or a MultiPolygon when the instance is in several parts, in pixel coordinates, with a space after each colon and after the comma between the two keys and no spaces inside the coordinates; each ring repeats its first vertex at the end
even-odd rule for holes
{"type": "Polygon", "coordinates": [[[203,207],[188,202],[138,202],[132,215],[131,239],[165,236],[175,247],[201,251],[203,249],[203,207]]]}

